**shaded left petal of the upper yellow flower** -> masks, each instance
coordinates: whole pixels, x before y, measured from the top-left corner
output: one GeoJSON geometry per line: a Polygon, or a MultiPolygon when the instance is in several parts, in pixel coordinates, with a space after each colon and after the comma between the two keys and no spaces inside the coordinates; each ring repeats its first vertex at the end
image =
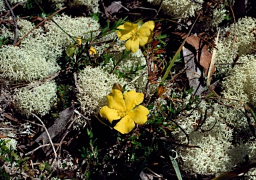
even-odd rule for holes
{"type": "Polygon", "coordinates": [[[120,40],[126,41],[127,39],[131,38],[131,32],[135,29],[139,29],[139,26],[133,23],[124,23],[123,25],[117,27],[117,29],[121,29],[121,31],[116,31],[117,37],[120,40]]]}

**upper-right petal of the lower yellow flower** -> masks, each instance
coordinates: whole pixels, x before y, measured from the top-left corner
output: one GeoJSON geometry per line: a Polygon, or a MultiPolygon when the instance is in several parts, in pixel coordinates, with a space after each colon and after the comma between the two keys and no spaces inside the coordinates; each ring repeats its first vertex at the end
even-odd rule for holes
{"type": "Polygon", "coordinates": [[[141,104],[141,102],[143,102],[144,99],[144,94],[135,92],[135,90],[126,92],[125,94],[123,94],[123,96],[125,98],[125,106],[127,111],[130,111],[135,106],[141,104]]]}

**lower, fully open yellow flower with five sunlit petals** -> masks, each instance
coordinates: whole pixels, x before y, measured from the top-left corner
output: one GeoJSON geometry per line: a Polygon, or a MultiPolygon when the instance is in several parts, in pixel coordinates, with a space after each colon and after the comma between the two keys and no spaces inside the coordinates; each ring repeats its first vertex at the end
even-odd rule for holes
{"type": "Polygon", "coordinates": [[[108,106],[104,106],[99,111],[103,118],[107,118],[110,123],[113,120],[121,119],[114,127],[121,134],[127,134],[133,130],[136,124],[145,124],[149,110],[141,106],[144,94],[131,90],[124,95],[120,90],[112,89],[112,93],[107,96],[108,106]],[[138,106],[139,105],[139,106],[138,106]],[[137,106],[135,108],[135,106],[137,106]]]}

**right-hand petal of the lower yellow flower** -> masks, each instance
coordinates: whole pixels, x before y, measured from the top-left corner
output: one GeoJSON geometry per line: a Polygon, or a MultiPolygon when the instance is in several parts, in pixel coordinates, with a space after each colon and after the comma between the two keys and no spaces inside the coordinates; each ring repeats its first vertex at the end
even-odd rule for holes
{"type": "Polygon", "coordinates": [[[130,116],[131,119],[136,124],[140,124],[140,125],[145,124],[145,122],[147,122],[148,114],[149,114],[149,110],[141,105],[139,105],[137,108],[127,113],[127,115],[130,116]]]}

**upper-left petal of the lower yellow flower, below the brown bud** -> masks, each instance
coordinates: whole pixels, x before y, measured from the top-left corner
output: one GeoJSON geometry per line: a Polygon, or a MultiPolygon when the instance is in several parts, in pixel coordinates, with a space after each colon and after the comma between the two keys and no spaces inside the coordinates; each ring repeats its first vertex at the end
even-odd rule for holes
{"type": "Polygon", "coordinates": [[[125,100],[120,90],[112,89],[112,93],[107,95],[109,108],[125,112],[125,100]]]}

